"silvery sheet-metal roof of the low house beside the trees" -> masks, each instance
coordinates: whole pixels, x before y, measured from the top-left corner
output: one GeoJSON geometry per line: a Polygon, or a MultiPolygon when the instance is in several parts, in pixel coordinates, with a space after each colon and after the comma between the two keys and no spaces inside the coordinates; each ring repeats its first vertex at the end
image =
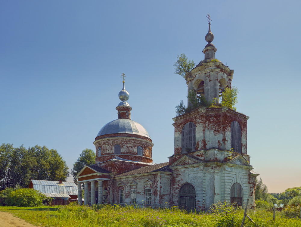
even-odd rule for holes
{"type": "Polygon", "coordinates": [[[59,181],[31,180],[31,182],[33,189],[42,193],[78,195],[77,185],[74,182],[63,181],[61,184],[59,181]]]}

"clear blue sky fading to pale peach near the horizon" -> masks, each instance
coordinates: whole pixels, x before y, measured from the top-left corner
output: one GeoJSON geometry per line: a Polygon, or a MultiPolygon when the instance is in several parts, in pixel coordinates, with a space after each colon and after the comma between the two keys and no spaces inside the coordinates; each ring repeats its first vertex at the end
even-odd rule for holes
{"type": "Polygon", "coordinates": [[[269,192],[301,186],[300,1],[0,1],[0,143],[57,149],[72,168],[117,118],[121,73],[132,120],[173,154],[175,105],[186,102],[177,54],[234,69],[248,154],[269,192]]]}

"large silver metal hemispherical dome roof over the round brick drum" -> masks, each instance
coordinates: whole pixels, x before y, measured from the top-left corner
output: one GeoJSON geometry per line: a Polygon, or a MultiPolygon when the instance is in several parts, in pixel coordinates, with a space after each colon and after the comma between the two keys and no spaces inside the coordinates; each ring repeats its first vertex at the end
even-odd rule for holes
{"type": "Polygon", "coordinates": [[[120,118],[107,123],[100,129],[97,136],[115,133],[128,133],[151,138],[146,129],[141,124],[126,118],[120,118]]]}

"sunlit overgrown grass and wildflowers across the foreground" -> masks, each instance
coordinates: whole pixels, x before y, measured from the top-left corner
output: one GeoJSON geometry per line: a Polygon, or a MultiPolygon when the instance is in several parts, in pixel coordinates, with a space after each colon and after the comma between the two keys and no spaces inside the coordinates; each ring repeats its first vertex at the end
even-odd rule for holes
{"type": "MultiPolygon", "coordinates": [[[[0,207],[0,211],[13,213],[26,221],[41,226],[217,226],[221,220],[220,214],[209,213],[187,213],[177,208],[152,209],[134,208],[132,206],[120,207],[119,205],[103,206],[68,206],[54,207],[0,207]]],[[[276,213],[276,220],[272,221],[273,213],[257,209],[249,210],[249,216],[256,222],[257,226],[301,226],[299,219],[285,218],[280,211],[276,213]]],[[[237,209],[234,213],[234,225],[240,226],[243,210],[237,209]]],[[[227,225],[221,225],[227,226],[227,225]]],[[[254,225],[246,219],[246,227],[254,225]]]]}

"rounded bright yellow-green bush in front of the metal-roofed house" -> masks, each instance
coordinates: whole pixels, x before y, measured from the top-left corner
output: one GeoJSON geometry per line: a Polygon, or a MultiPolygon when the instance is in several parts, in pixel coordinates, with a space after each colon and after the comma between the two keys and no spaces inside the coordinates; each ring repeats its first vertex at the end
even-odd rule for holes
{"type": "Polygon", "coordinates": [[[17,207],[41,206],[47,197],[32,188],[21,188],[12,191],[5,199],[6,205],[17,207]]]}

